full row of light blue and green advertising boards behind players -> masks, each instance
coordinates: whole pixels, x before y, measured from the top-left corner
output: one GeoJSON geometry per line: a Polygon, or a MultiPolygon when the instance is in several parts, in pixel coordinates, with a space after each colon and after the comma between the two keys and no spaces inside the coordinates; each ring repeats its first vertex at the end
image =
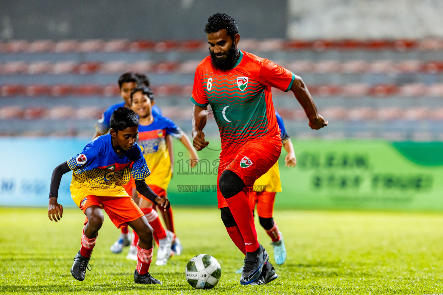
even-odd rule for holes
{"type": "MultiPolygon", "coordinates": [[[[0,138],[0,205],[47,206],[52,170],[79,153],[87,140],[0,138]]],[[[296,140],[296,168],[279,160],[283,192],[277,208],[393,209],[442,211],[443,142],[382,140],[296,140]]],[[[217,204],[219,139],[199,152],[188,169],[186,149],[175,142],[174,175],[168,194],[173,204],[217,204]]],[[[70,198],[70,173],[62,178],[59,203],[70,198]]]]}

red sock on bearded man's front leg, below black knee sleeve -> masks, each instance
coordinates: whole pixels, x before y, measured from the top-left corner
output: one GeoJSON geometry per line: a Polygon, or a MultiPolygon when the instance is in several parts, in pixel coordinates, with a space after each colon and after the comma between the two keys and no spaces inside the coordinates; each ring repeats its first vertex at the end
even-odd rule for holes
{"type": "Polygon", "coordinates": [[[249,205],[248,195],[245,193],[246,189],[226,199],[226,203],[228,203],[232,216],[245,240],[246,252],[254,252],[260,244],[257,241],[254,216],[249,205]]]}

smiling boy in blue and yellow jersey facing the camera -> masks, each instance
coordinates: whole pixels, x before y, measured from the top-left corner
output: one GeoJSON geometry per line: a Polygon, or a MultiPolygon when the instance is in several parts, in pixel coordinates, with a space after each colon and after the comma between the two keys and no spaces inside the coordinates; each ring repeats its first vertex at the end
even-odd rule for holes
{"type": "MultiPolygon", "coordinates": [[[[171,180],[172,176],[171,159],[166,145],[167,138],[175,137],[180,139],[190,153],[192,167],[194,167],[198,161],[197,152],[192,147],[187,135],[178,126],[176,126],[171,119],[152,115],[152,107],[154,106],[155,101],[150,88],[146,86],[139,86],[132,89],[131,99],[132,110],[134,110],[140,118],[139,138],[137,143],[142,149],[146,162],[152,171],[151,175],[146,179],[146,183],[157,195],[160,197],[166,197],[167,186],[169,185],[169,181],[171,180]]],[[[141,196],[139,206],[142,211],[144,211],[148,210],[146,208],[151,208],[152,204],[141,196]]],[[[172,220],[171,208],[168,211],[168,214],[171,215],[172,220]]],[[[149,211],[146,216],[148,217],[148,221],[150,222],[151,226],[154,228],[151,220],[157,216],[156,211],[149,211]]],[[[154,235],[155,234],[156,231],[154,228],[154,235]]],[[[175,234],[173,238],[175,241],[178,241],[175,234]]],[[[161,248],[162,245],[160,244],[159,253],[161,248]]],[[[178,252],[181,252],[181,250],[182,249],[176,249],[178,252]]],[[[165,249],[165,251],[167,251],[167,249],[165,249]]],[[[169,253],[170,251],[167,251],[163,260],[160,259],[161,256],[160,258],[157,256],[156,264],[166,264],[169,253]]]]}

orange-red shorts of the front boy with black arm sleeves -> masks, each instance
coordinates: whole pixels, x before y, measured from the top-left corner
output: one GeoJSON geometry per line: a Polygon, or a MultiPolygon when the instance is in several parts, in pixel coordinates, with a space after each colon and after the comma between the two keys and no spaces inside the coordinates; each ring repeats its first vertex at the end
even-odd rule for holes
{"type": "MultiPolygon", "coordinates": [[[[136,220],[144,216],[143,212],[132,200],[131,197],[101,197],[97,195],[88,195],[82,199],[80,209],[85,213],[86,208],[97,205],[105,209],[113,224],[117,228],[126,226],[126,222],[136,220]]],[[[85,218],[85,225],[88,223],[88,218],[85,218]]]]}

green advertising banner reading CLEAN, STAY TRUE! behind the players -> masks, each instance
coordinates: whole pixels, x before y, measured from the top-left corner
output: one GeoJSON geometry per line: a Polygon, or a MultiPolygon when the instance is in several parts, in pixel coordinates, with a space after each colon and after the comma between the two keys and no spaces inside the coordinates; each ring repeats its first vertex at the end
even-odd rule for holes
{"type": "MultiPolygon", "coordinates": [[[[220,141],[209,141],[194,169],[175,142],[172,203],[216,206],[220,141]]],[[[297,166],[284,166],[284,150],[279,159],[283,192],[276,195],[277,208],[443,210],[443,142],[294,140],[293,145],[297,166]]]]}

